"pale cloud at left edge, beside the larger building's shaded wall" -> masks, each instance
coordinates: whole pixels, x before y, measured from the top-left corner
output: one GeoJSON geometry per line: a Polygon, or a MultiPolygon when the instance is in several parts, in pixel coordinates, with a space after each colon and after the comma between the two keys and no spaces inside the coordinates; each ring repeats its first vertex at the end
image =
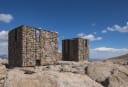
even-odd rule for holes
{"type": "Polygon", "coordinates": [[[8,31],[0,31],[0,55],[8,51],[8,31]]]}

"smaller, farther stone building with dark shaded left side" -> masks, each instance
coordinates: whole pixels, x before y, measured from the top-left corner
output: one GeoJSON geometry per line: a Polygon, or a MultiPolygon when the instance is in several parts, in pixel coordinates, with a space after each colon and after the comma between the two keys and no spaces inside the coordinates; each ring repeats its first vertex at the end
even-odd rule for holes
{"type": "Polygon", "coordinates": [[[82,38],[62,40],[62,59],[66,61],[88,61],[89,41],[82,38]]]}

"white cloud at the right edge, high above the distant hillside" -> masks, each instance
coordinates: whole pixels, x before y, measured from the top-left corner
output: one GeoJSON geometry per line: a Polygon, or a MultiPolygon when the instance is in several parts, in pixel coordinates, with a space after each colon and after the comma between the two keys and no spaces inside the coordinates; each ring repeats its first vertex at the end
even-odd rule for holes
{"type": "Polygon", "coordinates": [[[128,22],[126,23],[125,26],[120,26],[116,24],[112,27],[108,27],[107,31],[128,32],[128,22]]]}

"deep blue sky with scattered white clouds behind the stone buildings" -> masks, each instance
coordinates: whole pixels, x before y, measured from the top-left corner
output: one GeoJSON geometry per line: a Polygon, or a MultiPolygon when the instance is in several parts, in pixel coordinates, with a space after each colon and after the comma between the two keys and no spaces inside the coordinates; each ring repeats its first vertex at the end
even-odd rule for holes
{"type": "Polygon", "coordinates": [[[28,25],[59,32],[61,40],[90,39],[91,58],[128,53],[128,0],[1,0],[0,54],[9,30],[28,25]]]}

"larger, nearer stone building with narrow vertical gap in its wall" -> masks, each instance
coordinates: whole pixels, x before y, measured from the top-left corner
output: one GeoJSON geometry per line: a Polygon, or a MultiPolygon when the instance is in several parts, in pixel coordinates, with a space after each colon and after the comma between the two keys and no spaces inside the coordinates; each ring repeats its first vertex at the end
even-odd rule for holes
{"type": "Polygon", "coordinates": [[[58,33],[20,26],[8,36],[10,66],[36,66],[59,60],[58,33]]]}

